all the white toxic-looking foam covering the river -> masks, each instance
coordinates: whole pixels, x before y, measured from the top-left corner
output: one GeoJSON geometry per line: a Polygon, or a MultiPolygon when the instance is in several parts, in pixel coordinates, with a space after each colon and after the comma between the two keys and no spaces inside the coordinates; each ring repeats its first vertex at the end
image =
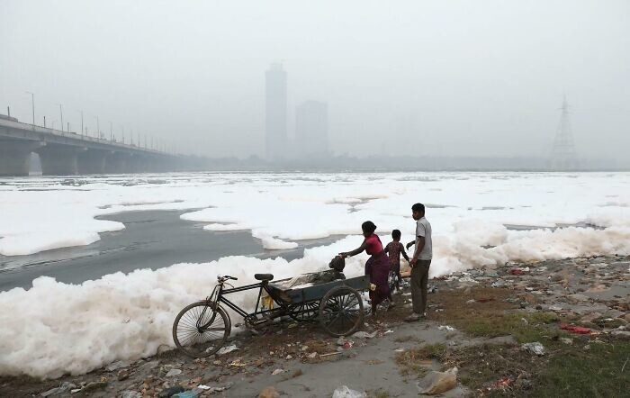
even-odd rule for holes
{"type": "MultiPolygon", "coordinates": [[[[131,210],[191,209],[182,219],[211,231],[250,230],[267,249],[299,240],[360,233],[372,220],[383,242],[396,228],[413,238],[410,205],[428,206],[434,231],[431,276],[508,260],[630,253],[630,175],[513,173],[196,174],[10,179],[0,185],[0,254],[86,245],[119,222],[95,220],[131,210]],[[78,182],[78,183],[76,183],[78,182]],[[562,228],[557,223],[603,228],[562,228]],[[509,231],[505,225],[536,225],[509,231]]],[[[287,277],[327,267],[361,237],[305,251],[304,257],[221,258],[104,276],[81,285],[48,277],[0,294],[0,375],[82,374],[117,359],[173,346],[170,328],[187,303],[211,291],[216,275],[252,282],[256,272],[287,277]]],[[[365,255],[348,260],[363,273],[365,255]]],[[[253,293],[236,302],[252,305],[253,293]]]]}

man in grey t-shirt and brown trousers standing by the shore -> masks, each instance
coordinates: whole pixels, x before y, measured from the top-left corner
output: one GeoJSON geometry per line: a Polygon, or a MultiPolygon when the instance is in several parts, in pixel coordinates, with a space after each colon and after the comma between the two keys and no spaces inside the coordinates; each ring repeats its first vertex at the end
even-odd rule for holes
{"type": "Polygon", "coordinates": [[[418,321],[427,316],[428,267],[431,265],[431,258],[433,258],[433,247],[431,244],[431,224],[425,218],[424,204],[411,206],[411,215],[416,220],[416,240],[407,244],[407,249],[416,245],[413,258],[410,260],[413,312],[405,318],[405,321],[418,321]]]}

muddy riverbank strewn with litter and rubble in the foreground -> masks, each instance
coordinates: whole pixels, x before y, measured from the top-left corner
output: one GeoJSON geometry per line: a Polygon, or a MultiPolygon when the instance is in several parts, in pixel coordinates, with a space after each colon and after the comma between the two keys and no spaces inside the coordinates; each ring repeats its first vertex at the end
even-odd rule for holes
{"type": "Polygon", "coordinates": [[[238,349],[222,356],[191,359],[165,347],[156,357],[87,375],[4,377],[0,395],[136,398],[166,396],[180,386],[199,396],[241,397],[271,386],[283,396],[320,397],[347,385],[374,397],[415,396],[428,371],[453,366],[457,387],[444,396],[627,392],[630,258],[509,263],[432,285],[427,321],[401,321],[410,312],[403,291],[395,309],[346,340],[316,324],[286,321],[257,335],[234,335],[229,344],[238,349]]]}

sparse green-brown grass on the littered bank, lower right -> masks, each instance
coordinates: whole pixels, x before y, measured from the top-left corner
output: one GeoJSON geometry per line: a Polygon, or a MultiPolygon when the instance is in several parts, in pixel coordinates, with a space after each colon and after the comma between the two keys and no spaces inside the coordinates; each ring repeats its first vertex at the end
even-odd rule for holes
{"type": "MultiPolygon", "coordinates": [[[[596,343],[592,337],[558,330],[555,323],[566,319],[561,320],[554,312],[518,311],[516,304],[505,301],[508,293],[483,288],[477,292],[472,290],[470,294],[446,292],[438,297],[444,312],[434,313],[432,318],[475,337],[512,335],[519,343],[539,341],[545,346],[545,356],[523,351],[520,344],[464,348],[434,344],[399,354],[396,362],[401,374],[421,377],[433,361],[438,361],[443,370],[457,366],[458,381],[471,389],[473,395],[630,396],[627,393],[630,391],[630,342],[609,339],[596,343]],[[466,304],[471,298],[488,297],[488,294],[494,294],[492,300],[466,304]],[[559,338],[569,336],[574,341],[572,345],[560,342],[559,338]],[[584,348],[587,345],[589,348],[584,348]]],[[[594,323],[600,327],[616,325],[605,318],[594,323]]]]}

